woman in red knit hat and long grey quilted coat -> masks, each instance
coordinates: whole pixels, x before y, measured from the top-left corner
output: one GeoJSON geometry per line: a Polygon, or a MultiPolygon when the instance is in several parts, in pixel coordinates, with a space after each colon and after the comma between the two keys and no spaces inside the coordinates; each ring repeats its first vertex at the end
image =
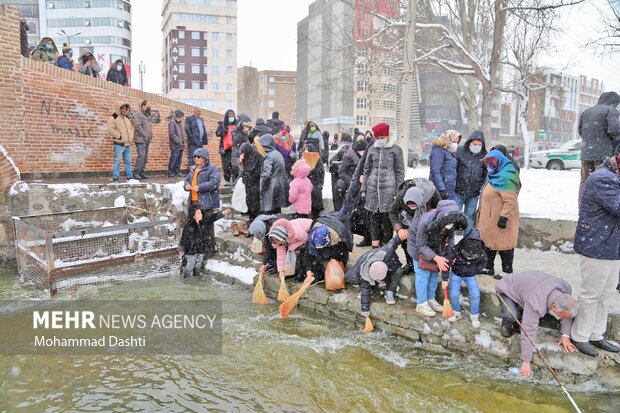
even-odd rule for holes
{"type": "Polygon", "coordinates": [[[403,150],[390,139],[390,125],[373,126],[376,139],[366,151],[361,191],[366,194],[364,208],[371,214],[372,247],[387,244],[392,238],[390,208],[398,187],[405,180],[403,150]]]}

